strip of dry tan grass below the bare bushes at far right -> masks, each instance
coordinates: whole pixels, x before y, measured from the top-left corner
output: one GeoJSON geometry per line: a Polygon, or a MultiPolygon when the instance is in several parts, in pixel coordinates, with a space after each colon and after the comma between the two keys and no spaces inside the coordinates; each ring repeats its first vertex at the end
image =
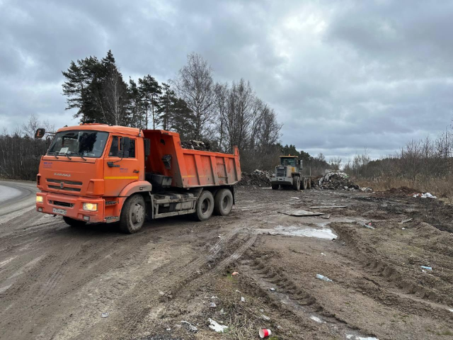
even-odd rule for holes
{"type": "Polygon", "coordinates": [[[443,179],[417,179],[415,183],[408,179],[397,179],[390,176],[382,176],[378,179],[357,179],[359,186],[371,187],[374,191],[385,191],[390,188],[406,186],[413,188],[415,192],[432,193],[441,198],[453,198],[453,176],[443,179]]]}

